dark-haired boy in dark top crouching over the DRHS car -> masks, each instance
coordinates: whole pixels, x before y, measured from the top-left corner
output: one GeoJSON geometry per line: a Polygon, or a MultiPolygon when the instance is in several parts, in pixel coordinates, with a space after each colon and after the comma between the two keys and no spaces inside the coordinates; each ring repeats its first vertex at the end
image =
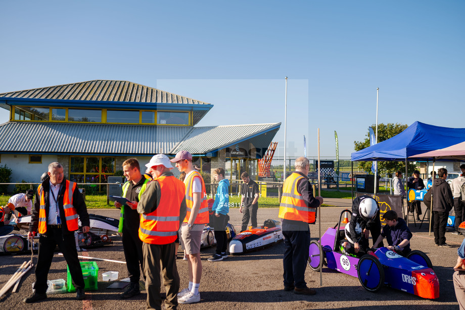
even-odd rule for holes
{"type": "Polygon", "coordinates": [[[386,238],[386,241],[388,241],[388,249],[396,251],[403,256],[407,255],[411,251],[410,238],[412,237],[412,233],[405,221],[398,218],[397,212],[394,210],[387,211],[383,215],[383,220],[386,221],[386,225],[383,227],[383,231],[373,247],[376,248],[378,243],[386,238]]]}

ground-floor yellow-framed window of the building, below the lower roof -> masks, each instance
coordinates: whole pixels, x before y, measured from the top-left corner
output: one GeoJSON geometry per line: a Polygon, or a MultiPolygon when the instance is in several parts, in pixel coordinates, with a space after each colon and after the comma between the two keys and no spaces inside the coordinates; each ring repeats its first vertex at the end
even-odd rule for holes
{"type": "Polygon", "coordinates": [[[108,176],[114,173],[115,158],[113,157],[70,157],[70,181],[77,183],[107,183],[108,176]]]}

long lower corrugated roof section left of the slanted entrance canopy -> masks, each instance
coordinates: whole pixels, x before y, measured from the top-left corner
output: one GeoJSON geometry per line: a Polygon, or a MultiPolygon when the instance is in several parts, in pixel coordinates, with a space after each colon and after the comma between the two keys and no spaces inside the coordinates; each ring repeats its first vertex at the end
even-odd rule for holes
{"type": "Polygon", "coordinates": [[[167,153],[192,127],[7,122],[0,152],[73,154],[167,153]]]}

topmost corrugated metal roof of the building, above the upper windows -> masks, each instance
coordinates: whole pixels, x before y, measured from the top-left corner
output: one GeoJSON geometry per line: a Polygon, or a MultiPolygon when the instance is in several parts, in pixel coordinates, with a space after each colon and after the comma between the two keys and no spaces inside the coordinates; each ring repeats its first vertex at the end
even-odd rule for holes
{"type": "Polygon", "coordinates": [[[93,80],[0,93],[0,97],[210,105],[128,81],[93,80]]]}

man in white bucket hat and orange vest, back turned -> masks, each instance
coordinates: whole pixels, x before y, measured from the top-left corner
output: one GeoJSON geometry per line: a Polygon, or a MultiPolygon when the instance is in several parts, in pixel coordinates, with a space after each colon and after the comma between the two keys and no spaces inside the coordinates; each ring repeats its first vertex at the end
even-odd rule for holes
{"type": "Polygon", "coordinates": [[[141,214],[139,238],[142,240],[147,308],[160,309],[160,270],[166,289],[165,308],[176,309],[179,275],[176,267],[174,241],[186,214],[184,183],[170,171],[173,169],[164,154],[157,154],[146,165],[153,177],[137,204],[141,214]],[[161,267],[160,267],[161,263],[161,267]]]}

